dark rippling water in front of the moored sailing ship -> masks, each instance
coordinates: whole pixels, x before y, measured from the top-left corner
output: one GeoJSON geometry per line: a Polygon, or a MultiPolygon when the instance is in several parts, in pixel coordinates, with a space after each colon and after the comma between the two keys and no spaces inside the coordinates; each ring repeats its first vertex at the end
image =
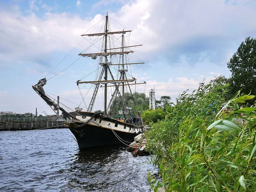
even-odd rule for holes
{"type": "Polygon", "coordinates": [[[79,151],[68,129],[0,131],[0,191],[149,192],[149,156],[124,146],[79,151]]]}

